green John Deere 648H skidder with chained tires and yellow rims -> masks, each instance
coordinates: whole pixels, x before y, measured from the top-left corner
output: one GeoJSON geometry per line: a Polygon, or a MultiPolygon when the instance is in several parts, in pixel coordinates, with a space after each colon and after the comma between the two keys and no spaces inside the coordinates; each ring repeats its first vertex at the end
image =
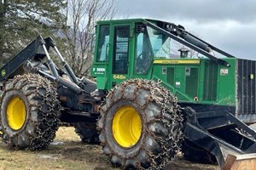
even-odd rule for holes
{"type": "Polygon", "coordinates": [[[246,125],[256,122],[255,61],[237,59],[183,26],[98,21],[96,82],[76,77],[51,38],[38,37],[0,71],[0,130],[10,147],[44,149],[58,122],[74,122],[84,141],[100,141],[123,168],[161,168],[180,149],[190,161],[225,169],[255,166],[239,160],[256,151],[256,133],[246,125]]]}

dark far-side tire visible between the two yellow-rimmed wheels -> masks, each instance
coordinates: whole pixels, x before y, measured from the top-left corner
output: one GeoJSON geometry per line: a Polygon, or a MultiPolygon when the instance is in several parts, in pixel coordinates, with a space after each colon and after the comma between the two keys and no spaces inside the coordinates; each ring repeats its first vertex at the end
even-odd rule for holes
{"type": "Polygon", "coordinates": [[[79,134],[84,143],[99,144],[99,134],[96,130],[96,123],[78,122],[74,124],[75,132],[79,134]]]}

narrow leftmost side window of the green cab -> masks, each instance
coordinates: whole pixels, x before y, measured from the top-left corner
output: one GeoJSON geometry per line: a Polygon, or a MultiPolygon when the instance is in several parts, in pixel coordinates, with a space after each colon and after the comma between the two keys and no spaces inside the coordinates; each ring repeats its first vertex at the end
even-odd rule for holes
{"type": "Polygon", "coordinates": [[[100,37],[96,61],[108,60],[109,26],[100,27],[100,37]]]}

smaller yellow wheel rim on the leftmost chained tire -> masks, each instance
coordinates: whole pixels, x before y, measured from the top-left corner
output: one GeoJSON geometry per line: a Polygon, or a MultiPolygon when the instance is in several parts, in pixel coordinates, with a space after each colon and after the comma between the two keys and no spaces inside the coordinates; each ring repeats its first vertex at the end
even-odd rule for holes
{"type": "Polygon", "coordinates": [[[7,105],[7,122],[9,127],[19,130],[26,120],[26,105],[20,97],[15,96],[7,105]]]}

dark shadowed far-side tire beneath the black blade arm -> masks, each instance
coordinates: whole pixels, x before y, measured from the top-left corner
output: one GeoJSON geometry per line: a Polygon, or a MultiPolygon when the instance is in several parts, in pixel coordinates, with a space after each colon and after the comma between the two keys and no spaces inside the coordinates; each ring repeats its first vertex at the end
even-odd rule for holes
{"type": "Polygon", "coordinates": [[[209,151],[204,150],[200,146],[193,144],[188,139],[183,140],[182,151],[183,156],[188,161],[205,164],[217,164],[215,156],[213,156],[209,151]]]}

